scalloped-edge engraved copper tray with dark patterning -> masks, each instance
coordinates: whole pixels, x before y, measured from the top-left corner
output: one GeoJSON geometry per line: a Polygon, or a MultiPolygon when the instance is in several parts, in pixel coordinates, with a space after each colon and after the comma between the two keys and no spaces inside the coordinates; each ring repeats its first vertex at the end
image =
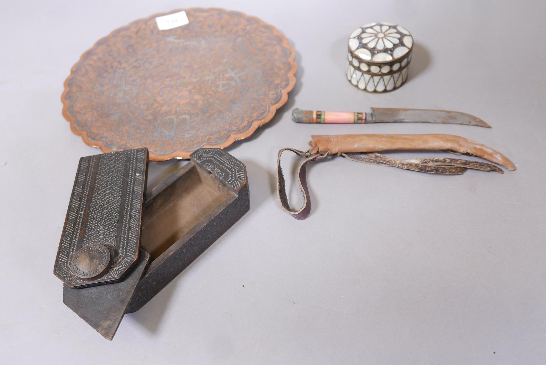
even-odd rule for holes
{"type": "Polygon", "coordinates": [[[224,148],[271,120],[295,84],[288,39],[257,17],[186,9],[159,31],[156,14],[100,39],[64,82],[63,116],[103,152],[147,147],[150,159],[224,148]]]}

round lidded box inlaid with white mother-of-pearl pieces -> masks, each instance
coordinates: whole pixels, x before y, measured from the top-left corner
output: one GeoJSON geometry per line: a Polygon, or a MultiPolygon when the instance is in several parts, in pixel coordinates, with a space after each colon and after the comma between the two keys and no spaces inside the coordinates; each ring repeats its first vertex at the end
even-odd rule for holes
{"type": "Polygon", "coordinates": [[[382,93],[406,82],[413,37],[394,23],[370,23],[349,36],[347,80],[361,90],[382,93]]]}

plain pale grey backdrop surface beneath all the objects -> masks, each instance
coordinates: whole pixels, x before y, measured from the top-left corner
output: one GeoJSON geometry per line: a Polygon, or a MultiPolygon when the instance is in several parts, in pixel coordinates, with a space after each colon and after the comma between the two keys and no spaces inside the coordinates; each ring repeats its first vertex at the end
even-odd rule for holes
{"type": "MultiPolygon", "coordinates": [[[[3,2],[2,363],[546,363],[544,4],[3,2]],[[298,81],[270,123],[227,149],[247,166],[250,212],[108,342],[64,306],[52,274],[78,159],[99,153],[64,121],[63,81],[113,29],[194,6],[276,26],[298,81]],[[345,78],[348,35],[373,21],[405,26],[416,43],[408,82],[383,95],[345,78]],[[493,128],[290,120],[293,107],[370,106],[465,111],[493,128]],[[277,151],[342,133],[457,134],[518,170],[432,176],[335,158],[310,168],[311,216],[289,217],[275,194],[277,151]]],[[[184,163],[150,163],[149,188],[184,163]]]]}

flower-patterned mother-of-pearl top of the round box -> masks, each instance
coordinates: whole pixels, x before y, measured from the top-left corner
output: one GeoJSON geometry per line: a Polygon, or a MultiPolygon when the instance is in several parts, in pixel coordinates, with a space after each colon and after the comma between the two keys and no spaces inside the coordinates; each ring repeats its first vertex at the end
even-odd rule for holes
{"type": "Polygon", "coordinates": [[[413,47],[413,37],[394,23],[369,23],[349,37],[349,50],[361,61],[390,62],[404,57],[413,47]]]}

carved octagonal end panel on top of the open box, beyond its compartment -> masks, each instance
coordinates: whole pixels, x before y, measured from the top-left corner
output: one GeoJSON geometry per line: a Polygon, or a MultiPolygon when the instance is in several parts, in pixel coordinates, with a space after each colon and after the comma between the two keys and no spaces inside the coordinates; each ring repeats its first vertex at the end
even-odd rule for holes
{"type": "Polygon", "coordinates": [[[222,149],[201,148],[193,152],[190,158],[235,190],[239,190],[246,181],[245,165],[222,149]]]}

